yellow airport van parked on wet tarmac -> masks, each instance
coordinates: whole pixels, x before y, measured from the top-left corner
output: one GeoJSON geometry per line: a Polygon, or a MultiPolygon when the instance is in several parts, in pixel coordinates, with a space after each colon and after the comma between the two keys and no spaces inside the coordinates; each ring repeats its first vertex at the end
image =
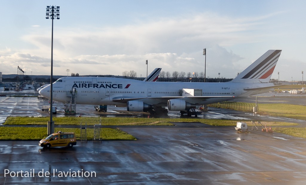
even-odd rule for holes
{"type": "Polygon", "coordinates": [[[54,146],[68,146],[71,148],[76,145],[76,136],[73,132],[58,131],[40,140],[38,145],[46,148],[54,146]]]}

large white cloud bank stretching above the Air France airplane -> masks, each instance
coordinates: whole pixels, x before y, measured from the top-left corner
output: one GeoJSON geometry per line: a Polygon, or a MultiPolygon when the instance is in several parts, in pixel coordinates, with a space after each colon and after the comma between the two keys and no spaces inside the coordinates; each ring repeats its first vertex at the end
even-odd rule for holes
{"type": "MultiPolygon", "coordinates": [[[[233,78],[250,63],[246,65],[243,57],[226,47],[260,42],[253,31],[271,16],[233,18],[207,12],[121,27],[57,28],[54,75],[63,75],[69,68],[80,75],[121,75],[123,71],[134,70],[140,76],[146,73],[145,60],[151,70],[161,67],[171,73],[204,72],[202,51],[206,47],[207,76],[216,77],[220,72],[233,78]]],[[[17,67],[26,62],[32,71],[49,73],[50,31],[34,26],[38,29],[22,37],[31,46],[1,57],[5,61],[2,64],[17,67]]]]}

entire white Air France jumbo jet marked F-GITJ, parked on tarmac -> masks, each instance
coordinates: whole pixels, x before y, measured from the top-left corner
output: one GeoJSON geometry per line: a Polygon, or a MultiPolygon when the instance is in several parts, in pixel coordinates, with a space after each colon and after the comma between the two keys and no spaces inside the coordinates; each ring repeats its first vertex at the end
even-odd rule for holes
{"type": "MultiPolygon", "coordinates": [[[[269,83],[282,50],[268,50],[236,78],[225,83],[148,82],[109,77],[63,77],[53,83],[53,100],[67,103],[76,92],[77,104],[126,106],[127,111],[189,111],[234,98],[271,91],[269,83]]],[[[50,85],[39,90],[50,98],[50,85]]]]}

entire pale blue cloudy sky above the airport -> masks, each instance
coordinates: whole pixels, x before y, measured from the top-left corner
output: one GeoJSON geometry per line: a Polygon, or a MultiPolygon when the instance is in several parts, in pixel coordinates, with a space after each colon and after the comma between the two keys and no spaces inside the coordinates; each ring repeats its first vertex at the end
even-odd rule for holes
{"type": "Polygon", "coordinates": [[[267,50],[282,50],[272,78],[306,74],[306,1],[269,0],[0,0],[0,72],[146,76],[162,71],[204,72],[234,78],[267,50]]]}

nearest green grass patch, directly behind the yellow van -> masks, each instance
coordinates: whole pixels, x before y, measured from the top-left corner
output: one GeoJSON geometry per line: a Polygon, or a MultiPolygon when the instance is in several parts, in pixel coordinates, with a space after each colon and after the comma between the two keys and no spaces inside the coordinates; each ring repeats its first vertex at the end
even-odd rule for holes
{"type": "MultiPolygon", "coordinates": [[[[56,128],[55,132],[74,132],[80,139],[80,128],[56,128]]],[[[134,136],[114,128],[101,128],[103,140],[137,140],[134,136]]],[[[94,129],[87,129],[87,140],[93,140],[94,129]]],[[[46,138],[47,127],[0,127],[0,140],[40,140],[46,138]]]]}

